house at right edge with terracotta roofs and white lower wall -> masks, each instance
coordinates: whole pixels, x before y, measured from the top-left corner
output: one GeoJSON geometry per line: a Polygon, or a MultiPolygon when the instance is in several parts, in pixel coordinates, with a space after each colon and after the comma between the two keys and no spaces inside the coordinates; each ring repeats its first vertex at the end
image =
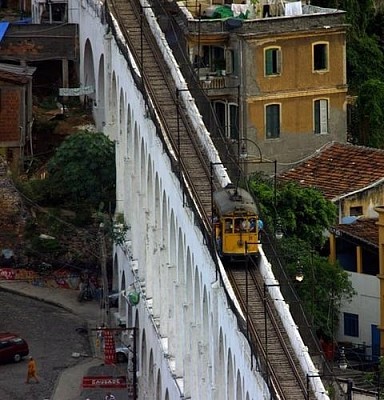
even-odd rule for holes
{"type": "Polygon", "coordinates": [[[384,150],[332,143],[281,179],[316,187],[335,203],[329,256],[348,271],[356,296],[342,305],[338,341],[359,360],[384,352],[384,150]]]}

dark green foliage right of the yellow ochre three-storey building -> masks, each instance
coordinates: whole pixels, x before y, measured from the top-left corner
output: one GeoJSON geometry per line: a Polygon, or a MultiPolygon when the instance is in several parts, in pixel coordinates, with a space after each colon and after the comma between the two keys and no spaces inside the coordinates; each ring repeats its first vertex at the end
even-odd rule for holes
{"type": "Polygon", "coordinates": [[[384,13],[376,0],[314,0],[315,5],[346,11],[347,77],[350,94],[358,99],[349,121],[355,144],[384,148],[380,132],[384,83],[384,13]],[[366,102],[366,105],[363,104],[366,102]]]}

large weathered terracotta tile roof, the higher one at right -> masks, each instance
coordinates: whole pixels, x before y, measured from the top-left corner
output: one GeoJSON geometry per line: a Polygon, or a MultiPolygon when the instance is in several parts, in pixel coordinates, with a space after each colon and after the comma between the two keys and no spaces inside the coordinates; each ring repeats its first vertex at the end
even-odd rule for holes
{"type": "Polygon", "coordinates": [[[384,181],[384,150],[331,142],[279,179],[316,187],[328,200],[337,200],[384,181]]]}

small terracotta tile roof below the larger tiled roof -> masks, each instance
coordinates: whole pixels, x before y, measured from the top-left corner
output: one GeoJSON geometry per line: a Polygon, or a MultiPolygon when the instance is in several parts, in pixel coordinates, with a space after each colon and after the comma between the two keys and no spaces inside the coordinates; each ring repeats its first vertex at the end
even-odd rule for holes
{"type": "Polygon", "coordinates": [[[347,235],[368,245],[379,247],[378,218],[358,218],[350,224],[335,225],[332,229],[336,235],[347,235]]]}

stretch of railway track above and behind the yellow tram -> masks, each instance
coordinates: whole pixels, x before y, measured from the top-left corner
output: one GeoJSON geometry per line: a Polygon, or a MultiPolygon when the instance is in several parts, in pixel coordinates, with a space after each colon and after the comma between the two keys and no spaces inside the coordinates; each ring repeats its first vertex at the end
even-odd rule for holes
{"type": "Polygon", "coordinates": [[[156,108],[164,134],[177,156],[180,177],[192,191],[206,229],[210,231],[210,162],[202,152],[187,113],[179,102],[178,90],[138,0],[110,0],[109,11],[118,21],[135,62],[140,66],[144,87],[156,108]]]}

